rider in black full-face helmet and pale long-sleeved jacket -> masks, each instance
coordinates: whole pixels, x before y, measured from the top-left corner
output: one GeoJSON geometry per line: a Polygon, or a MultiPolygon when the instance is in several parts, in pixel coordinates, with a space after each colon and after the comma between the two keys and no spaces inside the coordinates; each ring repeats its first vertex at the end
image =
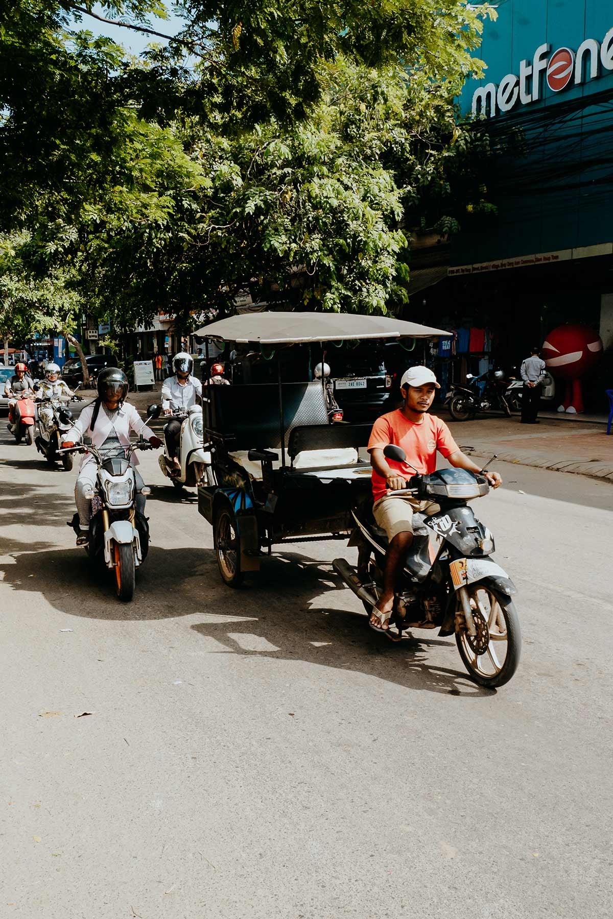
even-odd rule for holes
{"type": "MultiPolygon", "coordinates": [[[[66,434],[63,448],[74,447],[75,442],[83,439],[88,433],[92,444],[103,456],[124,456],[123,448],[130,444],[130,435],[142,434],[152,447],[161,447],[162,441],[153,434],[147,425],[142,423],[141,416],[135,407],[125,402],[128,394],[128,378],[123,370],[117,367],[106,367],[101,370],[96,380],[98,396],[95,402],[87,405],[73,427],[66,434]]],[[[132,466],[138,465],[136,453],[130,459],[132,466]]],[[[89,519],[92,502],[85,498],[85,492],[96,487],[96,460],[85,453],[81,468],[74,485],[74,500],[79,514],[79,535],[77,546],[85,546],[89,538],[89,519]]],[[[144,514],[145,496],[142,494],[144,482],[138,471],[136,474],[136,509],[144,514]]]]}

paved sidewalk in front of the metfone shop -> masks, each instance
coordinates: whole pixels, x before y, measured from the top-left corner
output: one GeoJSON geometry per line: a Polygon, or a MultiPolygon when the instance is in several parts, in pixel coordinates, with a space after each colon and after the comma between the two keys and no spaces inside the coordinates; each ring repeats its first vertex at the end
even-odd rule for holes
{"type": "MultiPolygon", "coordinates": [[[[442,413],[441,413],[442,414],[442,413]]],[[[575,472],[613,482],[613,434],[604,425],[585,420],[539,416],[539,425],[520,425],[519,417],[485,415],[474,421],[455,422],[442,414],[453,437],[465,453],[575,472]]]]}

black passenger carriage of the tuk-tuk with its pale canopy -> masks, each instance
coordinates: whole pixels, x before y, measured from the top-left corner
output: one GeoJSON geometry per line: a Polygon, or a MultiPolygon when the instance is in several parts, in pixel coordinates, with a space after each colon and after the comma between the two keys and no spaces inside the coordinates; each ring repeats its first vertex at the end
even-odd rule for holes
{"type": "Polygon", "coordinates": [[[293,346],[310,345],[313,361],[323,361],[326,345],[378,339],[413,347],[415,339],[449,333],[380,316],[261,312],[222,319],[196,334],[207,348],[210,341],[243,346],[278,369],[274,383],[207,388],[214,483],[199,486],[199,513],[213,528],[223,581],[237,586],[275,545],[347,539],[350,509],[370,490],[370,464],[358,450],[367,446],[371,425],[331,425],[325,380],[284,381],[280,354],[287,366],[286,349],[293,346]]]}

